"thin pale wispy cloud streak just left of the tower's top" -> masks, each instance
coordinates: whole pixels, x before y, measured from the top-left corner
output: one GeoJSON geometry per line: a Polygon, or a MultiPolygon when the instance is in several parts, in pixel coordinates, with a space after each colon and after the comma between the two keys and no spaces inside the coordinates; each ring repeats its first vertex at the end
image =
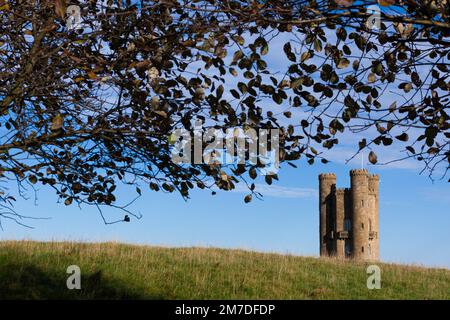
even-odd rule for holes
{"type": "MultiPolygon", "coordinates": [[[[314,188],[295,188],[283,187],[277,185],[256,184],[255,191],[261,193],[264,197],[273,198],[310,198],[317,197],[318,190],[314,188]]],[[[244,184],[236,185],[233,192],[249,193],[249,189],[244,184]]]]}

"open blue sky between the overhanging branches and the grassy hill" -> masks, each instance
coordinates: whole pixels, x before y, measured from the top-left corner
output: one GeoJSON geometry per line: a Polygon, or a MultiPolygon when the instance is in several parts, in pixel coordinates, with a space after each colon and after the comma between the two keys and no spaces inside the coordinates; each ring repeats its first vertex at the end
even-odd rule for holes
{"type": "MultiPolygon", "coordinates": [[[[283,68],[287,60],[280,55],[287,40],[281,36],[267,56],[269,68],[283,68]],[[279,46],[279,48],[277,48],[279,46]]],[[[233,52],[233,51],[231,51],[233,52]]],[[[233,79],[236,83],[239,79],[233,79]]],[[[398,92],[385,95],[391,103],[398,92]]],[[[268,102],[269,103],[269,102],[268,102]]],[[[280,112],[281,113],[281,112],[280,112]]],[[[301,112],[293,115],[299,121],[301,112]]],[[[247,192],[195,191],[185,202],[177,194],[153,193],[143,189],[143,196],[130,209],[142,219],[131,223],[104,225],[94,207],[66,207],[45,187],[29,200],[18,198],[15,209],[24,215],[49,217],[30,220],[34,229],[3,221],[0,239],[120,241],[157,246],[212,246],[244,248],[265,252],[317,256],[318,245],[318,175],[335,172],[338,186],[349,186],[348,171],[361,166],[360,158],[346,164],[355,151],[360,135],[344,134],[341,144],[329,155],[327,165],[299,168],[283,166],[280,181],[272,186],[259,181],[262,201],[244,204],[247,192]]],[[[399,147],[378,151],[380,161],[399,157],[399,147]]],[[[380,255],[381,260],[400,263],[445,266],[450,268],[450,185],[446,180],[432,181],[414,161],[388,166],[368,166],[380,175],[380,255]]],[[[11,186],[13,188],[13,186],[11,186]]],[[[13,191],[13,190],[12,190],[13,191]]],[[[122,190],[121,198],[131,197],[122,190]]],[[[126,201],[125,201],[126,202],[126,201]]],[[[109,220],[120,219],[122,212],[104,209],[109,220]]]]}

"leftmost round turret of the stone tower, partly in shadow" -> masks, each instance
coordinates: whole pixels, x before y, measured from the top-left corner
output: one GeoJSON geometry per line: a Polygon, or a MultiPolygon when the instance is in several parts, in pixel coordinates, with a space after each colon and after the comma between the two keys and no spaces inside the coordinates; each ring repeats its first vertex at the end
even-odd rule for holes
{"type": "Polygon", "coordinates": [[[327,232],[329,231],[330,219],[333,211],[332,190],[336,187],[336,175],[324,173],[319,175],[319,210],[320,210],[320,255],[329,255],[327,232]]]}

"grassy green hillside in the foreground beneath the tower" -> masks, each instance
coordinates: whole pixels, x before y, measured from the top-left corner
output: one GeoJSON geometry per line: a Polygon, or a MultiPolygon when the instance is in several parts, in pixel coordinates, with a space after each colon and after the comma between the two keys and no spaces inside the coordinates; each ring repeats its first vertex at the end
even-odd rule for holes
{"type": "Polygon", "coordinates": [[[450,270],[242,250],[0,242],[0,299],[450,299],[450,270]],[[66,269],[82,270],[69,291],[66,269]]]}

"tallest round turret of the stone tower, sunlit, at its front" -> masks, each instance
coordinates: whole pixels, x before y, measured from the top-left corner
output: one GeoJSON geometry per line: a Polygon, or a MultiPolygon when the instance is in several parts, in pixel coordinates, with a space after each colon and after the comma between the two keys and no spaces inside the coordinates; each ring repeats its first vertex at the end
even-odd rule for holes
{"type": "Polygon", "coordinates": [[[352,256],[368,259],[369,245],[369,173],[365,169],[351,170],[352,197],[352,256]]]}

